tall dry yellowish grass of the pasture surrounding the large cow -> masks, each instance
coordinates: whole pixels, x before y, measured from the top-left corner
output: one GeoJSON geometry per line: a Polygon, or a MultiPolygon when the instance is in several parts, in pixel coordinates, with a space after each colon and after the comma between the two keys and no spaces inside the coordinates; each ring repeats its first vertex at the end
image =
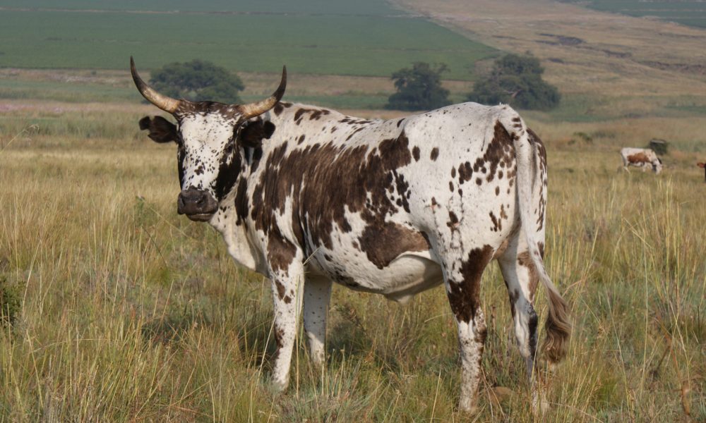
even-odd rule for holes
{"type": "MultiPolygon", "coordinates": [[[[81,117],[86,130],[104,124],[81,117]]],[[[489,266],[481,410],[468,417],[455,411],[455,323],[441,289],[402,307],[336,287],[327,369],[297,345],[289,391],[272,393],[269,284],[238,269],[213,230],[177,216],[174,148],[134,135],[136,117],[90,139],[56,127],[0,140],[0,281],[20,298],[0,334],[1,420],[706,419],[706,184],[693,154],[660,176],[616,173],[614,139],[566,141],[606,128],[537,122],[550,166],[547,263],[575,331],[566,362],[542,368],[551,410],[533,415],[489,266]]]]}

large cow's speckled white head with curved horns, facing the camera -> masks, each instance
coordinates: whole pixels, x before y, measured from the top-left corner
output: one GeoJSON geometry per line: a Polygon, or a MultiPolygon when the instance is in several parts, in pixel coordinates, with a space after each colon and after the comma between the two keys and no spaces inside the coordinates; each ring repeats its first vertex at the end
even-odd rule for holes
{"type": "Polygon", "coordinates": [[[249,120],[270,110],[285,94],[287,69],[267,99],[251,104],[190,102],[172,99],[155,91],[138,75],[130,58],[130,71],[140,94],[177,119],[174,125],[159,116],[140,120],[140,129],[150,131],[156,142],[177,143],[179,184],[177,212],[193,221],[209,221],[218,204],[231,191],[241,173],[242,147],[253,147],[253,138],[270,137],[274,126],[249,120]]]}

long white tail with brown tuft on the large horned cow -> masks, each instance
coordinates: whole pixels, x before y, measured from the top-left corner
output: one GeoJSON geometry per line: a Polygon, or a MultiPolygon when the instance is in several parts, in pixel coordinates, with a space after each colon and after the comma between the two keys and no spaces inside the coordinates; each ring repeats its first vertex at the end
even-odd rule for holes
{"type": "MultiPolygon", "coordinates": [[[[546,317],[546,337],[542,344],[545,357],[550,362],[560,361],[566,355],[568,339],[571,332],[571,324],[569,321],[569,307],[566,301],[561,297],[561,294],[551,282],[549,275],[546,274],[542,254],[539,252],[539,245],[535,235],[539,231],[539,223],[544,225],[538,219],[532,216],[532,187],[539,190],[541,184],[544,183],[539,171],[539,157],[537,152],[530,142],[530,133],[527,125],[522,121],[522,118],[517,112],[505,106],[501,113],[500,123],[508,131],[510,137],[513,138],[515,145],[515,158],[517,159],[517,197],[520,201],[520,222],[522,223],[522,231],[527,236],[527,247],[534,269],[537,271],[539,280],[544,285],[547,298],[549,299],[549,315],[546,317]]],[[[542,195],[546,195],[546,190],[542,195]]]]}

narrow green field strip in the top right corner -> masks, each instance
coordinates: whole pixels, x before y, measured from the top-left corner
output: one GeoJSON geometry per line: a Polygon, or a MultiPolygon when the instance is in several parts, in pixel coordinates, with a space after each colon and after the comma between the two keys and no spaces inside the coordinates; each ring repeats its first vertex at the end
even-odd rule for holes
{"type": "Polygon", "coordinates": [[[693,27],[706,27],[706,5],[702,1],[640,1],[640,0],[563,0],[597,11],[623,13],[629,16],[654,16],[662,20],[693,27]]]}

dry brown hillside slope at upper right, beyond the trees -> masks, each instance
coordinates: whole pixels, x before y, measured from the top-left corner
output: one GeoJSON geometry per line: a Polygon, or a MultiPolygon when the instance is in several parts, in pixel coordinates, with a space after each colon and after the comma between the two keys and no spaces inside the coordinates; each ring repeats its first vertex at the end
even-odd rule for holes
{"type": "Polygon", "coordinates": [[[554,118],[706,114],[704,30],[546,0],[395,3],[469,39],[542,59],[567,100],[554,118]]]}

